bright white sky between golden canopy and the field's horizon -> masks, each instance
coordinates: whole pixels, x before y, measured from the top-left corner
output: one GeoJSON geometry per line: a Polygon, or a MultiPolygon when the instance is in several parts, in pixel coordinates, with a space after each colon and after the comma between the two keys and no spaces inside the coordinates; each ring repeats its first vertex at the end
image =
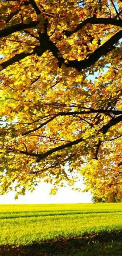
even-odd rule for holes
{"type": "MultiPolygon", "coordinates": [[[[83,188],[82,182],[77,182],[76,187],[83,188]]],[[[18,200],[14,200],[14,193],[9,192],[4,196],[0,196],[0,204],[63,204],[63,203],[90,203],[90,193],[81,193],[71,190],[71,187],[61,187],[56,195],[49,195],[51,185],[41,182],[36,186],[33,193],[26,193],[25,196],[19,196],[18,200]]]]}

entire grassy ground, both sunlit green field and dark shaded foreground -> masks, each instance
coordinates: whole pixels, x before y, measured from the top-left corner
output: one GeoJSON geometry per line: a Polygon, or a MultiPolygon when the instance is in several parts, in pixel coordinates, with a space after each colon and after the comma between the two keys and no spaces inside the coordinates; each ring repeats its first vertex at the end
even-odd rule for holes
{"type": "Polygon", "coordinates": [[[0,205],[0,255],[122,256],[121,230],[120,203],[0,205]]]}

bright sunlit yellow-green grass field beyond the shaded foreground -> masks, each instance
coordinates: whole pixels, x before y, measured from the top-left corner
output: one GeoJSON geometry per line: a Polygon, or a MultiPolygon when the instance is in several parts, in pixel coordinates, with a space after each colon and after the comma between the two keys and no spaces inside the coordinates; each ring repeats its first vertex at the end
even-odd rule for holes
{"type": "MultiPolygon", "coordinates": [[[[106,234],[114,230],[122,230],[122,204],[120,203],[0,205],[0,245],[3,247],[6,245],[26,245],[25,247],[27,247],[28,244],[39,244],[45,240],[61,240],[61,238],[93,233],[106,234]]],[[[74,240],[76,243],[80,243],[78,238],[74,240]]],[[[90,237],[86,236],[85,240],[88,242],[90,237]]],[[[101,253],[103,253],[100,239],[98,243],[92,242],[92,247],[96,248],[94,251],[97,250],[99,244],[99,250],[101,248],[101,253]]],[[[107,248],[105,250],[115,249],[113,242],[108,237],[107,242],[106,246],[108,247],[104,246],[104,249],[107,248]]],[[[50,243],[52,244],[52,242],[50,243]]],[[[89,254],[89,247],[85,254],[87,243],[84,243],[85,251],[82,251],[82,254],[79,251],[75,254],[74,250],[73,255],[106,255],[98,254],[98,252],[89,254]]],[[[115,243],[118,248],[122,248],[121,242],[116,241],[115,243]]],[[[68,253],[68,255],[70,254],[68,253]]],[[[122,255],[122,253],[118,255],[122,255]]]]}

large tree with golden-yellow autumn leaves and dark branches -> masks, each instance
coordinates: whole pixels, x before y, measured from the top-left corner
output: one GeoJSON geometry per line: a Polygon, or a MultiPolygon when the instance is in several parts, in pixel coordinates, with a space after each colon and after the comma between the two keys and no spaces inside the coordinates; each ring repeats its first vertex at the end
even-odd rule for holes
{"type": "Polygon", "coordinates": [[[78,173],[120,190],[121,18],[119,0],[1,0],[1,194],[78,173]]]}

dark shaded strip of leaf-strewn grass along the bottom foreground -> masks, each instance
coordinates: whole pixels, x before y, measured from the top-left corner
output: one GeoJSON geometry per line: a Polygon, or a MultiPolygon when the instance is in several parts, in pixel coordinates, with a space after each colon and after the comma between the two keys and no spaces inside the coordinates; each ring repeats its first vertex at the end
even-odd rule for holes
{"type": "Polygon", "coordinates": [[[122,256],[122,230],[81,237],[33,242],[25,246],[0,247],[0,256],[122,256]]]}

